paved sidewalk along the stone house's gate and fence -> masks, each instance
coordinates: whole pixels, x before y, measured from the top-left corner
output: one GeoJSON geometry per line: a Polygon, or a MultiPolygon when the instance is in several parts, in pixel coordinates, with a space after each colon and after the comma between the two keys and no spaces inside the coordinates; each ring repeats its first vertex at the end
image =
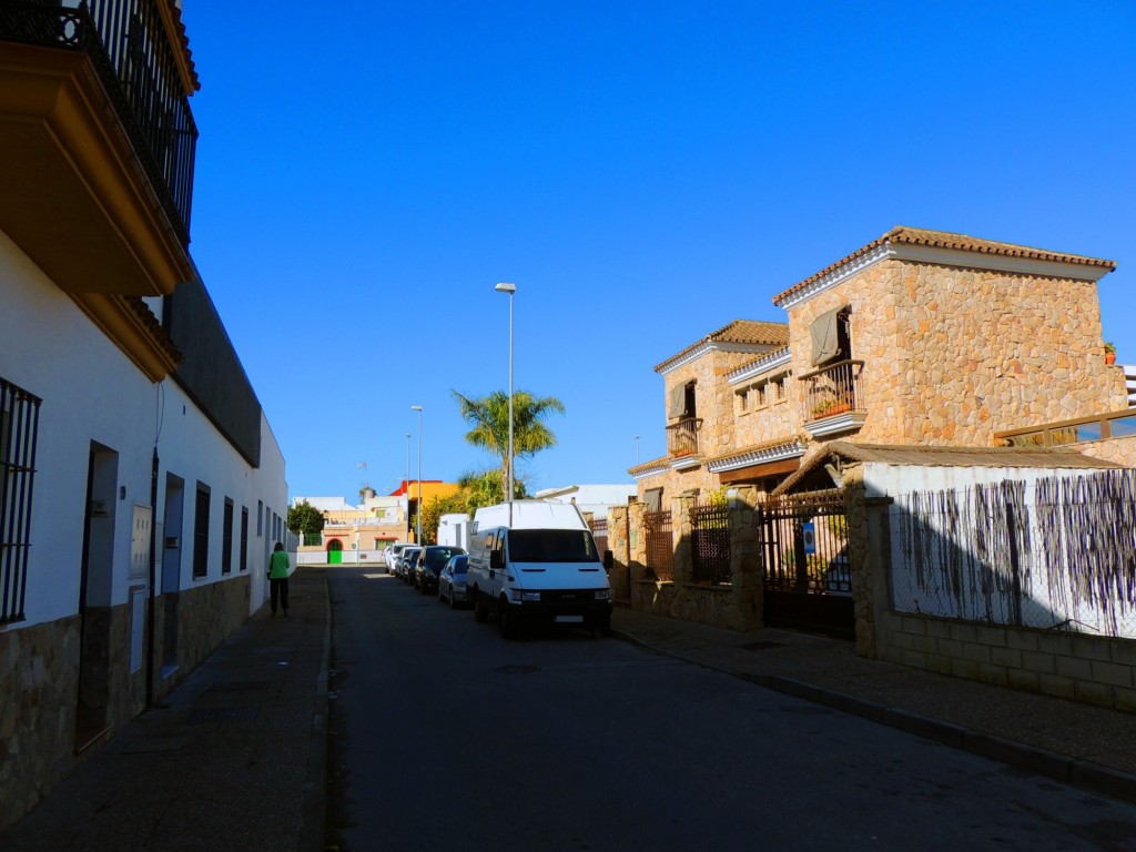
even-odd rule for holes
{"type": "Polygon", "coordinates": [[[617,609],[612,632],[837,710],[1136,802],[1136,716],[855,655],[851,642],[734,633],[617,609]]]}

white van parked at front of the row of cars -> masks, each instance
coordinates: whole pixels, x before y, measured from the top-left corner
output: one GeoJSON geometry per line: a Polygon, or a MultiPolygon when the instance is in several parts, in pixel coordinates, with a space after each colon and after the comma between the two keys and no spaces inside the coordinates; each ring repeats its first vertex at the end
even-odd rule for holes
{"type": "Polygon", "coordinates": [[[587,521],[571,503],[515,500],[478,509],[466,575],[474,618],[498,617],[512,637],[521,623],[611,628],[611,586],[587,521]]]}

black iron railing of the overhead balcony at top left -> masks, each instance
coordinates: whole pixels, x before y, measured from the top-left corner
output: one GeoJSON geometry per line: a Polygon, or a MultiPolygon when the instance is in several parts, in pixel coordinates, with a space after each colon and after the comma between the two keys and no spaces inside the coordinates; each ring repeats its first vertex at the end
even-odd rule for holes
{"type": "Polygon", "coordinates": [[[78,8],[0,0],[0,41],[80,51],[91,59],[187,247],[198,128],[152,0],[84,0],[78,8]]]}

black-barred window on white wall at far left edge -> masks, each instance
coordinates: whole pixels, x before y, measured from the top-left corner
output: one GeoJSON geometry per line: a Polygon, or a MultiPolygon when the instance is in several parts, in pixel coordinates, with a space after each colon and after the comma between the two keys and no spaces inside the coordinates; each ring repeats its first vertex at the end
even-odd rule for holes
{"type": "Polygon", "coordinates": [[[0,378],[0,624],[24,619],[41,402],[0,378]]]}

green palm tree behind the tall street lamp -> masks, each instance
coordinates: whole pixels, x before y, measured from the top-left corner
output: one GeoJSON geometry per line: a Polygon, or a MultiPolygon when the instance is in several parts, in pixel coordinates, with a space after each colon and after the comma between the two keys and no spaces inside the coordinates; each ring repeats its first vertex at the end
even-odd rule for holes
{"type": "MultiPolygon", "coordinates": [[[[470,399],[453,391],[462,419],[473,428],[466,441],[501,457],[501,482],[509,482],[509,394],[494,391],[482,399],[470,399]]],[[[512,445],[520,458],[532,458],[554,446],[557,436],[542,420],[551,412],[563,414],[565,403],[556,396],[533,396],[527,391],[512,394],[512,445]]],[[[516,496],[516,494],[513,494],[516,496]]]]}

